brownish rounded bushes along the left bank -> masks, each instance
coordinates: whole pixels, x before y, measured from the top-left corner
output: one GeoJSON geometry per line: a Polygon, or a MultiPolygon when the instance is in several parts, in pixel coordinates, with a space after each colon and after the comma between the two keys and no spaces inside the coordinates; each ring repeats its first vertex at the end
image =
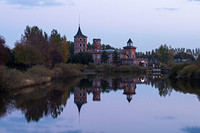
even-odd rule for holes
{"type": "Polygon", "coordinates": [[[47,83],[52,79],[65,79],[79,76],[86,67],[78,64],[56,64],[50,70],[45,66],[36,65],[21,72],[17,69],[9,69],[0,66],[0,88],[19,89],[37,84],[47,83]]]}

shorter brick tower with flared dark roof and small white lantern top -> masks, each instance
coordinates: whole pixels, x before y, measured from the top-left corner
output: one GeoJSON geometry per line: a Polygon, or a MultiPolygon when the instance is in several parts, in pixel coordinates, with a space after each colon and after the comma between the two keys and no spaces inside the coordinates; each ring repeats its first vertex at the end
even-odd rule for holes
{"type": "Polygon", "coordinates": [[[124,47],[126,58],[136,58],[135,51],[136,47],[133,46],[133,42],[131,39],[128,40],[127,46],[124,47]]]}

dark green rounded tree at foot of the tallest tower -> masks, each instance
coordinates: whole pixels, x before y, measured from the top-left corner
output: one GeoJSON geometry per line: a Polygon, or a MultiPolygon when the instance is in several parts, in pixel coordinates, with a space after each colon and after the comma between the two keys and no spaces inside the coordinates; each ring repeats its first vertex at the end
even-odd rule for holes
{"type": "Polygon", "coordinates": [[[89,64],[89,62],[94,62],[92,54],[88,52],[77,53],[72,57],[72,63],[89,64]]]}

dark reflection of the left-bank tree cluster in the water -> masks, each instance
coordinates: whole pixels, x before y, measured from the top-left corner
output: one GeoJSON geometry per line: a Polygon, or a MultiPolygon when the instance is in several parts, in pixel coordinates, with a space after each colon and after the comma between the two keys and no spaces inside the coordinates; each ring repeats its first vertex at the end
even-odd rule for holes
{"type": "Polygon", "coordinates": [[[40,118],[49,115],[57,118],[63,112],[70,96],[70,88],[74,85],[62,81],[54,82],[50,86],[39,86],[29,93],[17,94],[15,106],[22,110],[28,122],[37,122],[40,118]]]}

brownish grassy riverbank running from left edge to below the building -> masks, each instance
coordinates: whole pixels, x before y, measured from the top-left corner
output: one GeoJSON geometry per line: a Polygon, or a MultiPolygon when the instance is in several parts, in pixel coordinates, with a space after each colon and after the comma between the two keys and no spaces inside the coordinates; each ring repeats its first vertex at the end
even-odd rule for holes
{"type": "Polygon", "coordinates": [[[82,64],[56,64],[53,69],[36,65],[26,71],[0,66],[0,87],[6,89],[19,89],[28,86],[50,82],[51,80],[77,77],[84,74],[104,73],[134,73],[144,74],[146,69],[139,66],[115,66],[110,64],[89,65],[82,64]]]}

